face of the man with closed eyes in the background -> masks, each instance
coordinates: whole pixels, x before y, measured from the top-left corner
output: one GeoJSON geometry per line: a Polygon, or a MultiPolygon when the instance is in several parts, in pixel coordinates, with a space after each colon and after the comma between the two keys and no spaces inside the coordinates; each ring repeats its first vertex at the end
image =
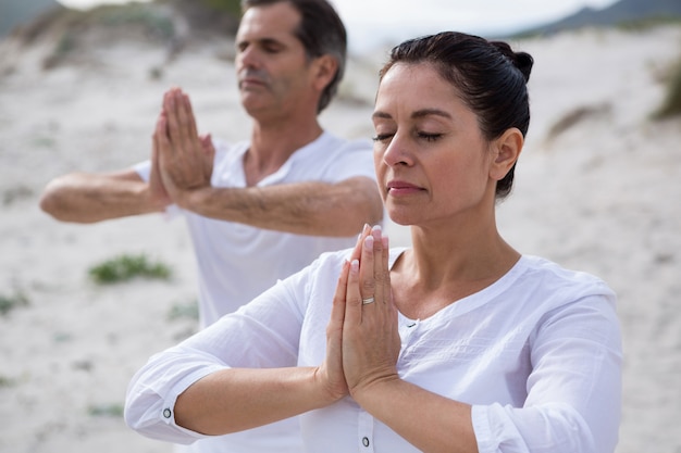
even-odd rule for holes
{"type": "Polygon", "coordinates": [[[294,30],[300,14],[288,3],[250,8],[236,35],[242,104],[253,117],[290,116],[301,103],[317,104],[311,65],[294,30]]]}

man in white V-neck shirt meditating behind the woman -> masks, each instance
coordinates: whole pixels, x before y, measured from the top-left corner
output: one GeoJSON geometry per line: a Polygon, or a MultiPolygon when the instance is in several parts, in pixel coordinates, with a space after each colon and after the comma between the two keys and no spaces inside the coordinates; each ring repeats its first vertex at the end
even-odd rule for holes
{"type": "MultiPolygon", "coordinates": [[[[199,265],[206,327],[309,264],[351,247],[381,221],[369,146],[324,131],[318,114],[343,77],[346,32],[325,0],[245,0],[236,46],[250,140],[199,137],[188,97],[163,99],[151,160],[111,174],[75,173],[48,185],[40,205],[91,223],[153,212],[184,214],[199,265]]],[[[196,452],[299,452],[296,420],[199,440],[196,452]],[[274,449],[274,450],[273,450],[274,449]]]]}

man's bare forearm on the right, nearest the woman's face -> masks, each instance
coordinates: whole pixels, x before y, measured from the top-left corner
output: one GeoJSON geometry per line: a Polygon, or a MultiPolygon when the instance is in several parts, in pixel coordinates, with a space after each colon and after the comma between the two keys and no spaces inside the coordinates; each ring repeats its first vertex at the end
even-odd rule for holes
{"type": "Polygon", "coordinates": [[[178,204],[197,214],[298,235],[348,237],[381,222],[375,181],[299,183],[269,187],[205,188],[178,204]]]}

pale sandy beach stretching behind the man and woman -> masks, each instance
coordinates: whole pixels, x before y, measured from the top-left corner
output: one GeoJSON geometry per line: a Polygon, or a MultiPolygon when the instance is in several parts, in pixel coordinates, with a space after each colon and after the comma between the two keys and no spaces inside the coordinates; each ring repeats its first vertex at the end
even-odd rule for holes
{"type": "MultiPolygon", "coordinates": [[[[104,39],[104,38],[102,38],[104,39]]],[[[618,453],[681,453],[681,117],[651,119],[681,58],[681,27],[586,29],[515,41],[535,58],[532,124],[502,234],[519,251],[605,279],[624,342],[618,453]]],[[[147,159],[162,93],[183,87],[201,131],[244,138],[228,42],[111,42],[48,70],[53,42],[0,42],[0,453],[161,453],[125,427],[127,382],[149,355],[196,329],[182,221],[161,215],[59,223],[40,192],[70,171],[147,159]],[[121,254],[166,263],[169,281],[101,286],[88,269],[121,254]],[[23,302],[23,303],[18,303],[23,302]],[[1,313],[1,312],[0,312],[1,313]],[[179,315],[177,315],[179,313],[179,315]]],[[[384,53],[354,59],[322,115],[370,137],[384,53]]],[[[408,231],[389,224],[393,244],[408,231]]]]}

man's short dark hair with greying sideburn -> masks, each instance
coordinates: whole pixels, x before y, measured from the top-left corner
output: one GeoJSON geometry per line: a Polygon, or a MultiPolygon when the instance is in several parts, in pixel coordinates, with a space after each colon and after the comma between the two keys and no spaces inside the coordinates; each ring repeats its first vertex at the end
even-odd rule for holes
{"type": "Polygon", "coordinates": [[[326,0],[242,0],[242,11],[249,8],[288,2],[300,13],[300,25],[294,34],[302,42],[309,60],[329,54],[338,68],[334,78],[326,85],[317,105],[317,112],[324,110],[338,91],[345,74],[347,55],[347,32],[338,13],[326,0]]]}

